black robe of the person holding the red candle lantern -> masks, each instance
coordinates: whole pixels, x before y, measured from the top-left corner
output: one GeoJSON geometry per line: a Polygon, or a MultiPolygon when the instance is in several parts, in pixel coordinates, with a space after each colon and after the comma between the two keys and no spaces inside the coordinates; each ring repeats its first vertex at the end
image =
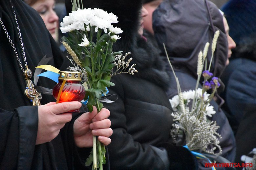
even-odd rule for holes
{"type": "MultiPolygon", "coordinates": [[[[47,63],[58,69],[63,63],[62,52],[54,42],[40,15],[21,0],[0,0],[0,17],[17,53],[22,51],[12,7],[15,9],[23,38],[26,60],[32,73],[46,57],[47,63]]],[[[23,64],[24,67],[24,64],[23,64]]],[[[33,77],[32,77],[33,80],[33,77]]],[[[37,85],[53,89],[55,82],[40,77],[37,85]]],[[[0,26],[0,169],[85,169],[84,158],[90,149],[78,149],[74,143],[73,122],[66,124],[52,141],[35,145],[38,127],[37,106],[31,106],[24,95],[25,79],[7,36],[0,26]],[[84,157],[80,157],[81,155],[84,157]]],[[[55,101],[52,95],[42,94],[41,104],[55,101]]],[[[91,169],[91,168],[88,168],[91,169]]]]}

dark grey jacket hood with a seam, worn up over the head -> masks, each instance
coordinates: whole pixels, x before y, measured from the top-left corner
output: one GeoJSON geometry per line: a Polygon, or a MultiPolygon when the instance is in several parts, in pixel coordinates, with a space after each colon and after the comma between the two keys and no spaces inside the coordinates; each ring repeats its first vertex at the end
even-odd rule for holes
{"type": "Polygon", "coordinates": [[[211,72],[220,76],[228,52],[223,16],[215,4],[207,0],[166,0],[153,13],[153,29],[157,42],[174,65],[197,76],[198,53],[210,42],[207,66],[211,58],[211,42],[216,30],[220,30],[211,72]]]}

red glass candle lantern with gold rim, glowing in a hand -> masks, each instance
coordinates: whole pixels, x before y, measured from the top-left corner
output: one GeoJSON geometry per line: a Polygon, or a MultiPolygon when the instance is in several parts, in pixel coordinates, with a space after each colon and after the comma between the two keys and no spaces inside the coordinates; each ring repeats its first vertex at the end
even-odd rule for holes
{"type": "MultiPolygon", "coordinates": [[[[85,89],[81,84],[80,72],[60,71],[58,83],[53,88],[53,97],[57,100],[56,103],[81,101],[85,96],[85,89]]],[[[79,112],[70,110],[69,113],[79,112]]]]}

